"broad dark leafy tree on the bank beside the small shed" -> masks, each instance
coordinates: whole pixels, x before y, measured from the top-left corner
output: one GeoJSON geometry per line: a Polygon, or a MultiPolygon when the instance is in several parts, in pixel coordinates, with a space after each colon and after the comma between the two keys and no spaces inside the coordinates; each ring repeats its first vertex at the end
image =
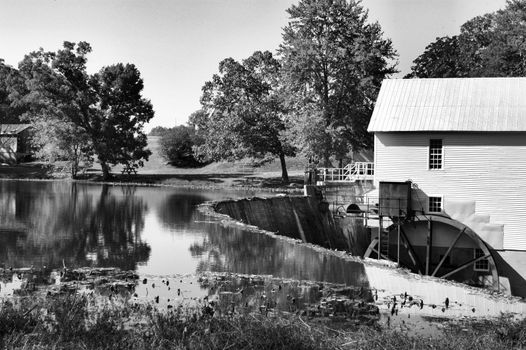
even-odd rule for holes
{"type": "Polygon", "coordinates": [[[148,158],[142,128],[153,109],[141,96],[143,81],[134,65],[116,64],[89,75],[90,52],[86,42],[64,42],[57,52],[26,55],[19,64],[26,91],[18,95],[31,108],[26,117],[39,126],[39,146],[65,147],[62,154],[70,157],[72,172],[76,157],[93,151],[108,179],[110,165],[139,166],[148,158]]]}

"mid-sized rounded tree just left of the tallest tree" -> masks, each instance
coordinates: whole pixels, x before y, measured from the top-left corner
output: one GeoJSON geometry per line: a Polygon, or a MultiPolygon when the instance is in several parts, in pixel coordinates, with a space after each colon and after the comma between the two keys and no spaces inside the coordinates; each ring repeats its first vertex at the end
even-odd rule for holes
{"type": "Polygon", "coordinates": [[[282,180],[289,182],[285,156],[285,110],[279,93],[280,64],[268,51],[240,62],[227,58],[219,74],[203,86],[202,111],[191,118],[203,143],[197,152],[209,159],[278,157],[282,180]]]}

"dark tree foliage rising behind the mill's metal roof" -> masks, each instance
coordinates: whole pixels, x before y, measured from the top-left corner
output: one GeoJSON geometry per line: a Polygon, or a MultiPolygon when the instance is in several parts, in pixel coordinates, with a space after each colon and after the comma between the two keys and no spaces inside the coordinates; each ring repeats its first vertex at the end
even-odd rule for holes
{"type": "Polygon", "coordinates": [[[408,77],[497,77],[526,75],[526,1],[477,16],[460,34],[437,38],[414,60],[408,77]]]}

